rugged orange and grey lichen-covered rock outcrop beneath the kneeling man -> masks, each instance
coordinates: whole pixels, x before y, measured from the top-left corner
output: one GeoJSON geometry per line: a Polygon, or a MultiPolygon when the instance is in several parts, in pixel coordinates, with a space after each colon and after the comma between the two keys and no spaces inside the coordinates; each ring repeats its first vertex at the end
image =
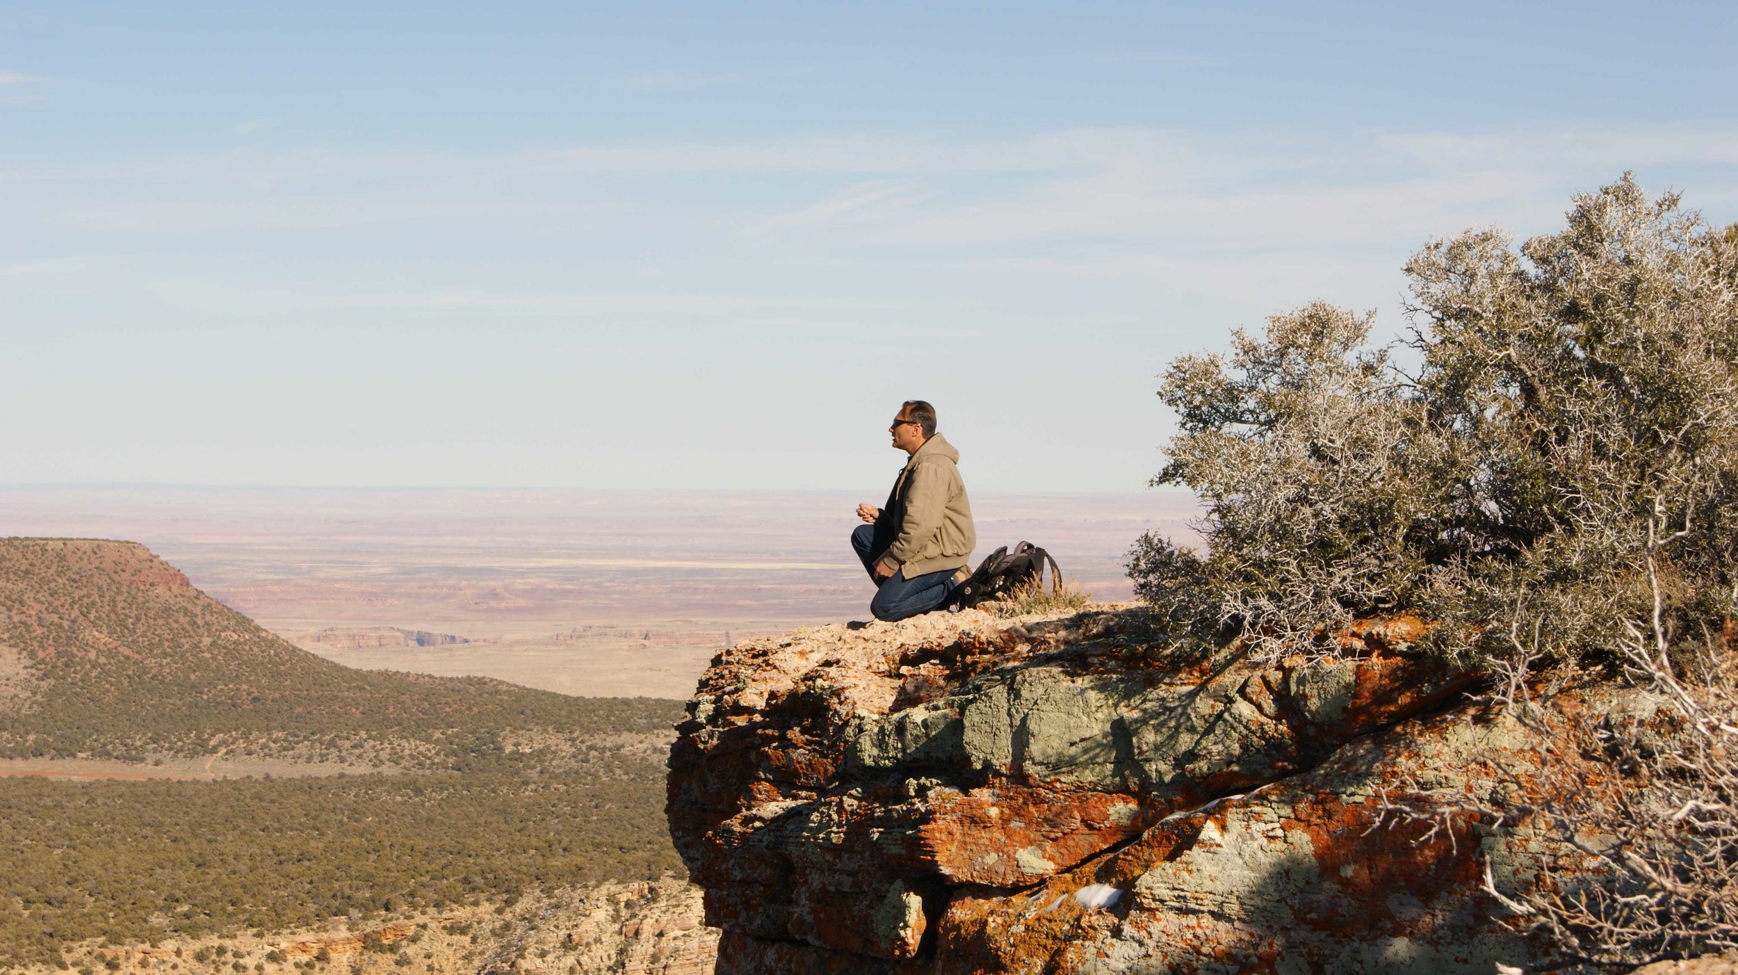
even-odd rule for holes
{"type": "Polygon", "coordinates": [[[1529,890],[1571,852],[1474,812],[1535,759],[1510,718],[1469,713],[1470,674],[1396,650],[1416,624],[1290,666],[1142,627],[966,612],[721,652],[667,806],[718,972],[1550,961],[1481,886],[1489,867],[1529,890]]]}

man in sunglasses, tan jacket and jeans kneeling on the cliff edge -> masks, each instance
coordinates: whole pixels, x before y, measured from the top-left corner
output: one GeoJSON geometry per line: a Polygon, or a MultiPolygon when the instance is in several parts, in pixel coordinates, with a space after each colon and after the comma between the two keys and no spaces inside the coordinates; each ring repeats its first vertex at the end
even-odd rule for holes
{"type": "Polygon", "coordinates": [[[947,603],[970,575],[977,544],[972,502],[959,480],[959,452],[935,433],[935,407],[905,400],[888,426],[893,447],[911,455],[886,495],[886,507],[859,504],[867,521],[852,532],[852,547],[878,589],[869,601],[874,619],[895,620],[947,603]]]}

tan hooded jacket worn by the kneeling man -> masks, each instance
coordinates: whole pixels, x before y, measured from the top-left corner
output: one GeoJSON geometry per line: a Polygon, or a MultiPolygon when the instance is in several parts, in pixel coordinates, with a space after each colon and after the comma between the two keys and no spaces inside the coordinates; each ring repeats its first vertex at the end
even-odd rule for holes
{"type": "Polygon", "coordinates": [[[937,433],[911,455],[893,483],[893,497],[904,494],[905,513],[885,558],[899,565],[905,579],[961,568],[972,558],[977,528],[958,462],[959,452],[937,433]]]}

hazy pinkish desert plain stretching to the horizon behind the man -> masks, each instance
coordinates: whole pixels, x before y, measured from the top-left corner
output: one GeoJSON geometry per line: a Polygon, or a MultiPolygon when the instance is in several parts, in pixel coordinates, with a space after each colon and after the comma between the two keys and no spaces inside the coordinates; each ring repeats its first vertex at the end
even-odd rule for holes
{"type": "MultiPolygon", "coordinates": [[[[749,636],[867,619],[839,492],[0,488],[0,535],[129,539],[295,645],[353,667],[570,695],[685,699],[749,636]]],[[[878,501],[878,499],[872,499],[878,501]]],[[[1189,537],[1173,492],[973,495],[978,551],[1048,547],[1130,596],[1137,535],[1189,537]]]]}

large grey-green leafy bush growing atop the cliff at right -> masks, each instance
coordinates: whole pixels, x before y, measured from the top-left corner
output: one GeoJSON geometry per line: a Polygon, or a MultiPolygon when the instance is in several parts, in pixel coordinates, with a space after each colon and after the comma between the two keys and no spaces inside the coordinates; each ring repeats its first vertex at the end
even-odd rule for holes
{"type": "Polygon", "coordinates": [[[1519,250],[1495,229],[1406,266],[1411,332],[1310,304],[1177,360],[1158,485],[1206,551],[1158,535],[1137,593],[1264,655],[1331,653],[1411,612],[1439,652],[1618,667],[1651,620],[1719,638],[1738,544],[1738,235],[1625,176],[1519,250]],[[1655,570],[1649,575],[1649,567],[1655,570]],[[1655,600],[1658,596],[1658,600],[1655,600]]]}

